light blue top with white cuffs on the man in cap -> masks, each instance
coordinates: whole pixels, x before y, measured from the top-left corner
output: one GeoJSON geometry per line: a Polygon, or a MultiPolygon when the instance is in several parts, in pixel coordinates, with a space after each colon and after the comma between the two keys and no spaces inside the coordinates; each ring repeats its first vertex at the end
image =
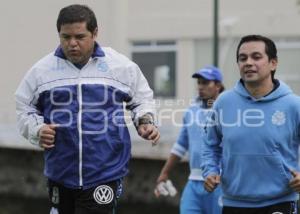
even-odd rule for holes
{"type": "Polygon", "coordinates": [[[210,109],[199,99],[187,108],[183,116],[183,126],[171,153],[183,158],[189,154],[190,175],[189,180],[202,181],[201,153],[206,134],[204,127],[210,109]]]}

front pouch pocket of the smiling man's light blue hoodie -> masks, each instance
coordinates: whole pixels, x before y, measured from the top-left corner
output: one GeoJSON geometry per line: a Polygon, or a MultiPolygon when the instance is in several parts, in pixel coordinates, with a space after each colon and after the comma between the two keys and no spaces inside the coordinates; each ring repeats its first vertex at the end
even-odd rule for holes
{"type": "Polygon", "coordinates": [[[291,192],[289,169],[276,155],[231,155],[223,162],[224,195],[261,201],[291,192]]]}

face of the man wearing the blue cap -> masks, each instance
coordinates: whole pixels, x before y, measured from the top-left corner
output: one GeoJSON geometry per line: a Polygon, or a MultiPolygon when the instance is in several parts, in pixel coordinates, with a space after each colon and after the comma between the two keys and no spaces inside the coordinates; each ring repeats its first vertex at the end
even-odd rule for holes
{"type": "Polygon", "coordinates": [[[219,93],[220,86],[212,80],[206,80],[202,77],[198,78],[199,97],[204,100],[215,99],[219,93]]]}

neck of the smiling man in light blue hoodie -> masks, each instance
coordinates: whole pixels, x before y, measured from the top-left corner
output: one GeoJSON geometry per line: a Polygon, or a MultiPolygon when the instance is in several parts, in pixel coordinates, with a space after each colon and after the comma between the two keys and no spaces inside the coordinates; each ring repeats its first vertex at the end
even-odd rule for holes
{"type": "Polygon", "coordinates": [[[245,88],[252,97],[259,99],[269,94],[274,89],[273,81],[265,81],[264,83],[245,83],[245,88]]]}

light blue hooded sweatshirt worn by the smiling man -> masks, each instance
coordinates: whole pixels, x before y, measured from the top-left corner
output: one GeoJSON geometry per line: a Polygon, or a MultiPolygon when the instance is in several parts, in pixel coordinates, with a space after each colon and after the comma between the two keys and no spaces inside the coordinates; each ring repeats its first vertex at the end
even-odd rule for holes
{"type": "Polygon", "coordinates": [[[223,203],[263,207],[295,201],[300,98],[283,82],[255,99],[239,81],[214,103],[203,149],[203,176],[221,172],[223,203]],[[221,164],[221,165],[220,165],[221,164]]]}

